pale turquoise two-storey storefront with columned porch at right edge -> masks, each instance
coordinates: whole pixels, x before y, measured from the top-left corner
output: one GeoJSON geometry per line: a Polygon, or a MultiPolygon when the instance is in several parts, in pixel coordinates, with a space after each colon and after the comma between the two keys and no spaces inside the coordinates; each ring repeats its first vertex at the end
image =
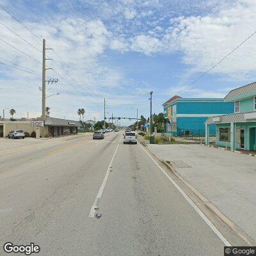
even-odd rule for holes
{"type": "Polygon", "coordinates": [[[205,144],[209,145],[210,127],[216,127],[216,145],[231,150],[256,150],[256,83],[230,91],[225,102],[232,102],[230,115],[211,116],[205,122],[205,144]]]}

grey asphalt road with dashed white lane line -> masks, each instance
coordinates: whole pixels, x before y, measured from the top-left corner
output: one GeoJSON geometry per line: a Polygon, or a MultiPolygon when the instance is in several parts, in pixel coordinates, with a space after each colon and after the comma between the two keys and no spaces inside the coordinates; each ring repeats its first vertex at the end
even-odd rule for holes
{"type": "Polygon", "coordinates": [[[10,241],[38,244],[44,256],[223,255],[220,238],[141,145],[122,143],[122,132],[0,158],[0,202],[1,248],[10,241]]]}

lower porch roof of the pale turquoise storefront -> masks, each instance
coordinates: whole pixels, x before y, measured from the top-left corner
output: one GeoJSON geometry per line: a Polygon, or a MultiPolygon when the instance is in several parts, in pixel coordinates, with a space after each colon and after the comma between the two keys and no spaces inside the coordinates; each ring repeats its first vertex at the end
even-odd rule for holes
{"type": "Polygon", "coordinates": [[[245,118],[245,115],[249,113],[256,113],[255,111],[251,112],[243,112],[243,113],[235,113],[229,115],[221,115],[221,116],[210,116],[205,124],[228,124],[228,123],[239,123],[239,122],[255,122],[255,120],[250,120],[245,118]]]}

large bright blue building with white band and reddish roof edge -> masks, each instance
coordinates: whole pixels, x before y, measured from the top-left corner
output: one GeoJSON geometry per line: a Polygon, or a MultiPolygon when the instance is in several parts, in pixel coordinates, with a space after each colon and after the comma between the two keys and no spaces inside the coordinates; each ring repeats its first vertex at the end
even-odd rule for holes
{"type": "MultiPolygon", "coordinates": [[[[173,96],[163,104],[164,117],[170,124],[164,125],[164,133],[173,136],[205,136],[205,121],[209,116],[233,113],[233,104],[223,99],[192,99],[173,96]]],[[[209,134],[215,135],[211,125],[209,134]]]]}

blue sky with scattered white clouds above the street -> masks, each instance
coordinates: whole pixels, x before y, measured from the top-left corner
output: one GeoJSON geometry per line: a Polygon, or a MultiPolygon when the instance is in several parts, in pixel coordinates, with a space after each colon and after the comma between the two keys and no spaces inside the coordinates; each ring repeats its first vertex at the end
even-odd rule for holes
{"type": "Polygon", "coordinates": [[[53,49],[46,52],[52,59],[47,68],[53,68],[47,80],[58,78],[47,83],[52,117],[77,120],[77,109],[84,108],[85,120],[102,120],[104,98],[107,117],[136,118],[136,108],[147,117],[150,91],[152,111],[159,113],[173,95],[222,98],[255,81],[256,35],[187,88],[256,30],[255,0],[0,4],[33,32],[0,8],[0,110],[6,109],[6,117],[8,108],[16,110],[17,118],[28,112],[30,118],[41,115],[42,38],[53,49]]]}

